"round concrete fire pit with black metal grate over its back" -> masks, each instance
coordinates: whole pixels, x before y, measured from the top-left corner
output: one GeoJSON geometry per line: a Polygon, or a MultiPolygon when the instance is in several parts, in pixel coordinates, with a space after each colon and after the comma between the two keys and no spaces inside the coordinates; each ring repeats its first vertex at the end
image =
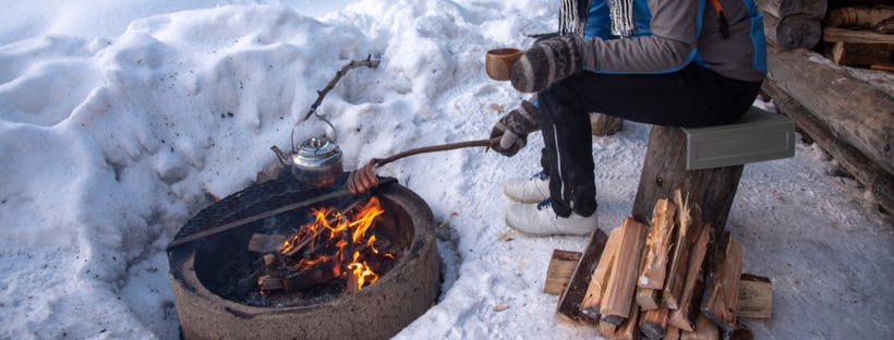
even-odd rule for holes
{"type": "MultiPolygon", "coordinates": [[[[182,228],[178,239],[329,194],[343,187],[346,180],[347,174],[333,185],[309,190],[287,174],[253,185],[200,211],[182,228]]],[[[325,270],[324,280],[299,281],[292,283],[297,287],[293,290],[269,290],[273,255],[250,250],[250,243],[254,243],[258,234],[283,239],[303,235],[299,229],[312,222],[312,207],[171,248],[168,252],[170,279],[183,336],[186,339],[384,339],[425,313],[435,302],[440,286],[431,209],[422,198],[392,180],[384,181],[373,197],[345,195],[314,206],[351,206],[360,201],[377,201],[385,211],[377,217],[375,235],[387,246],[383,252],[387,251],[389,258],[394,258],[387,265],[377,266],[376,270],[385,271],[378,272],[374,283],[367,280],[364,286],[362,279],[357,282],[349,272],[324,267],[315,269],[325,270]],[[262,278],[268,280],[266,289],[262,289],[265,287],[262,278]]],[[[349,271],[359,270],[357,254],[372,247],[365,245],[372,243],[367,241],[351,248],[350,253],[355,255],[349,271]]],[[[289,253],[282,246],[276,250],[289,253]]],[[[350,254],[347,257],[351,260],[350,254]]],[[[371,257],[371,262],[375,260],[371,257]]],[[[282,282],[288,286],[290,281],[282,282]]]]}

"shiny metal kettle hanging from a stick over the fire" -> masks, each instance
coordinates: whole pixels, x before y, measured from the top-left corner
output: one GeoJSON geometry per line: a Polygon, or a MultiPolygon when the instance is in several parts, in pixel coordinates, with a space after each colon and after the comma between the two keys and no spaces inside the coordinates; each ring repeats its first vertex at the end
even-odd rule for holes
{"type": "Polygon", "coordinates": [[[341,177],[341,149],[327,137],[311,137],[293,148],[292,154],[276,146],[270,149],[302,184],[326,186],[341,177]]]}

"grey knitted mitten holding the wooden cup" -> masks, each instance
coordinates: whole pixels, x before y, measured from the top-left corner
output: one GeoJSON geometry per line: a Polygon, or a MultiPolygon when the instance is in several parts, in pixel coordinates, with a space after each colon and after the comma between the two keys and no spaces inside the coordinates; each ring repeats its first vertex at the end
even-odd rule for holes
{"type": "Polygon", "coordinates": [[[542,40],[531,46],[512,65],[509,80],[522,93],[545,89],[583,69],[580,38],[568,35],[542,40]]]}

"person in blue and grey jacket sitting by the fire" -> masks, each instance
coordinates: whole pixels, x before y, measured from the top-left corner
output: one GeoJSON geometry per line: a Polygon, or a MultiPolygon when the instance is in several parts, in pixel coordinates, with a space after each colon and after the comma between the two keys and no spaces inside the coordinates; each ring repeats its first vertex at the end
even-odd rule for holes
{"type": "Polygon", "coordinates": [[[593,0],[583,14],[582,32],[535,41],[512,65],[512,86],[535,95],[491,132],[499,137],[493,148],[511,157],[541,131],[543,171],[504,184],[512,201],[506,222],[524,233],[597,228],[589,112],[666,126],[728,124],[766,74],[753,0],[593,0]]]}

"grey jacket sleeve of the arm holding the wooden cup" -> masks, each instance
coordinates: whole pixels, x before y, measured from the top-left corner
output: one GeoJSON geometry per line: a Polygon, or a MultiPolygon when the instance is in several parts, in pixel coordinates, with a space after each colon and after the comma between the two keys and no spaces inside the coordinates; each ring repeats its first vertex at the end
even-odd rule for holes
{"type": "MultiPolygon", "coordinates": [[[[651,35],[584,40],[588,70],[597,73],[668,73],[682,69],[696,56],[703,5],[703,0],[649,0],[651,35]]],[[[638,19],[637,23],[640,22],[638,19]]]]}

